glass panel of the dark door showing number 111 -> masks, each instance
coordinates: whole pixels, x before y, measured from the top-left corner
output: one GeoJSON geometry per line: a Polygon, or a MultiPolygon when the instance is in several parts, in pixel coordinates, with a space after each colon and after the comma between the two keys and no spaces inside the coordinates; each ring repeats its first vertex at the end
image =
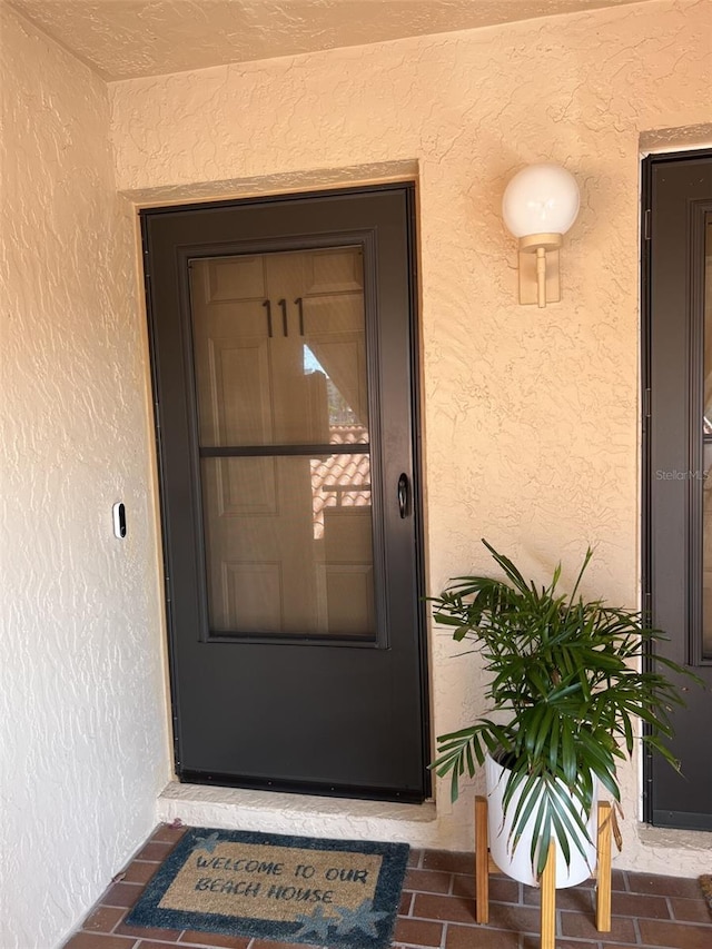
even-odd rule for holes
{"type": "Polygon", "coordinates": [[[373,639],[362,249],[190,270],[210,631],[373,639]]]}

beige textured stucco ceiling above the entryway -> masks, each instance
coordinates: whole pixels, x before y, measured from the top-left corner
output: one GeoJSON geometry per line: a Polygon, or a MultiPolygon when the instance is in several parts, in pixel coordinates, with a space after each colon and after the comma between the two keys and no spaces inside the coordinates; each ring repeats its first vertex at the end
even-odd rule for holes
{"type": "Polygon", "coordinates": [[[4,0],[127,79],[646,0],[4,0]]]}

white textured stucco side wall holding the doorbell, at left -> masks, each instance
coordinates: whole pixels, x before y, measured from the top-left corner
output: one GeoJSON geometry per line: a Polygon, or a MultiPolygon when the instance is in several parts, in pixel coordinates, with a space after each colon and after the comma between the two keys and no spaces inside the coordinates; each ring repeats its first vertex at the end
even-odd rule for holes
{"type": "Polygon", "coordinates": [[[166,699],[106,86],[6,4],[0,52],[0,946],[51,949],[154,826],[166,699]]]}

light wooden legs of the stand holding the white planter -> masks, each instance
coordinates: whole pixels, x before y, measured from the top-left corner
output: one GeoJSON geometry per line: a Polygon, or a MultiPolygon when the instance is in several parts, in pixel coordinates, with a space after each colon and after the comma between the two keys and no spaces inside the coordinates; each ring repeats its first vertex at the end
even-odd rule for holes
{"type": "MultiPolygon", "coordinates": [[[[490,921],[490,873],[500,868],[490,856],[487,837],[487,799],[475,798],[475,919],[490,921]]],[[[596,929],[611,931],[611,804],[599,802],[599,837],[596,841],[596,929]]],[[[546,867],[542,873],[542,949],[555,949],[556,938],[556,851],[548,848],[546,867]]]]}

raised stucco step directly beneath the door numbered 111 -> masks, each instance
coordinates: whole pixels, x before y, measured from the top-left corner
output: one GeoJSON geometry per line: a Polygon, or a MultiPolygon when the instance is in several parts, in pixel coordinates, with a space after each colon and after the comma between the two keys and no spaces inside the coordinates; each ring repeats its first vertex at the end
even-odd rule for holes
{"type": "Polygon", "coordinates": [[[438,846],[435,803],[402,804],[352,798],[320,798],[245,788],[216,788],[171,781],[157,802],[157,819],[190,827],[330,837],[336,840],[393,840],[412,847],[438,846]]]}

